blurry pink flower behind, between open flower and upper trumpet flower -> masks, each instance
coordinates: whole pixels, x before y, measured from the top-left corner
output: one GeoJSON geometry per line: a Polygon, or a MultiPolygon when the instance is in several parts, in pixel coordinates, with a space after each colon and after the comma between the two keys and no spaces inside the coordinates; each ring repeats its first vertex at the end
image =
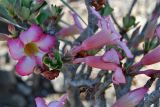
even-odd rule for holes
{"type": "Polygon", "coordinates": [[[68,36],[73,36],[75,34],[80,34],[83,32],[83,27],[78,19],[78,16],[75,13],[71,13],[72,17],[74,19],[74,24],[67,27],[67,28],[62,28],[56,35],[59,37],[68,37],[68,36]]]}

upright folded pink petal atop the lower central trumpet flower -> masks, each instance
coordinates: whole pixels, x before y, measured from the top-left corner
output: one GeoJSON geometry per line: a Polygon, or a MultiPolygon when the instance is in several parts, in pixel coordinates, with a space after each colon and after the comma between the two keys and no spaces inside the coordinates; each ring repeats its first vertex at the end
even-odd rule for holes
{"type": "Polygon", "coordinates": [[[115,49],[111,49],[109,51],[107,51],[102,59],[105,61],[105,62],[112,62],[112,63],[116,63],[116,64],[119,64],[120,61],[119,61],[119,55],[117,54],[116,50],[115,49]]]}

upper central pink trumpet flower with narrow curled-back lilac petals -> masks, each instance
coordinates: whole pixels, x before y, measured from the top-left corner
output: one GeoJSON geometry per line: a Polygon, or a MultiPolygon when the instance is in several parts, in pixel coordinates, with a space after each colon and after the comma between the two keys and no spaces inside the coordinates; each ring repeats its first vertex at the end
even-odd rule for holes
{"type": "Polygon", "coordinates": [[[78,52],[83,50],[92,50],[96,48],[101,48],[104,45],[116,44],[125,51],[128,58],[132,58],[133,55],[131,51],[128,49],[125,42],[120,41],[121,35],[115,30],[113,23],[110,21],[110,18],[102,18],[97,11],[92,8],[91,10],[99,19],[98,26],[102,30],[84,40],[80,46],[73,48],[71,54],[75,56],[78,52]]]}

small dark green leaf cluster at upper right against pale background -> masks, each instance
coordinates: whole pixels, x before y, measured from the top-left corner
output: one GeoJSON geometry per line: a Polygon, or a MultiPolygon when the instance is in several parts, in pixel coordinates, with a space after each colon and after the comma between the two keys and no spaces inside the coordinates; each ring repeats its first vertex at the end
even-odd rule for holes
{"type": "Polygon", "coordinates": [[[123,18],[123,25],[126,29],[129,29],[131,26],[135,25],[135,17],[134,16],[126,16],[123,18]]]}

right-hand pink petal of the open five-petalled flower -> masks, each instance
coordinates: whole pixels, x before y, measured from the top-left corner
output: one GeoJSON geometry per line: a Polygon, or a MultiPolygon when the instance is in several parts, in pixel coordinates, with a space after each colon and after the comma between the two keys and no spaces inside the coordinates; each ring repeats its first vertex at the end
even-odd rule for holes
{"type": "Polygon", "coordinates": [[[56,38],[50,35],[43,35],[40,40],[35,42],[44,52],[49,52],[56,44],[56,38]]]}

